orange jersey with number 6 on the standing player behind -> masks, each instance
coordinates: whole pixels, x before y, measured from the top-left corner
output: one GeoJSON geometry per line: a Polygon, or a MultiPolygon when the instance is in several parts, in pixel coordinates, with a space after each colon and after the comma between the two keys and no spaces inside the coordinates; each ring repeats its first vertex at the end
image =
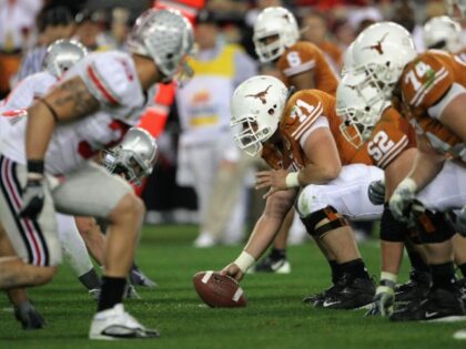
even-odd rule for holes
{"type": "Polygon", "coordinates": [[[286,85],[290,85],[290,78],[313,71],[314,88],[335,95],[338,79],[324,53],[311,42],[298,41],[286,49],[278,59],[276,68],[281,71],[286,85]]]}

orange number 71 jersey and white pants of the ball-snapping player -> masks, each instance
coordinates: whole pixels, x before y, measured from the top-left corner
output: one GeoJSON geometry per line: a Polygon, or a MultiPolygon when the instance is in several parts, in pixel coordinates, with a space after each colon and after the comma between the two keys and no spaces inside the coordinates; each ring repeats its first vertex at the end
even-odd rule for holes
{"type": "Polygon", "coordinates": [[[371,182],[381,179],[383,172],[369,166],[365,151],[357,150],[340,131],[342,121],[335,113],[335,97],[317,90],[303,90],[291,96],[280,123],[283,148],[265,145],[262,157],[272,168],[298,171],[307,163],[303,146],[314,130],[328,127],[335,138],[342,162],[338,177],[326,184],[310,184],[302,188],[296,208],[302,217],[333,206],[351,219],[374,219],[383,207],[367,197],[371,182]]]}

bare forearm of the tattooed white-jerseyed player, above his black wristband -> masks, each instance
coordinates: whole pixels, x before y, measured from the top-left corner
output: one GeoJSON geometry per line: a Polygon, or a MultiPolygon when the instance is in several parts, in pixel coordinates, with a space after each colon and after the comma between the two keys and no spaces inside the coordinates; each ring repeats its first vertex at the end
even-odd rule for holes
{"type": "Polygon", "coordinates": [[[53,116],[43,103],[37,102],[28,110],[28,126],[26,131],[27,160],[44,158],[53,127],[53,116]]]}

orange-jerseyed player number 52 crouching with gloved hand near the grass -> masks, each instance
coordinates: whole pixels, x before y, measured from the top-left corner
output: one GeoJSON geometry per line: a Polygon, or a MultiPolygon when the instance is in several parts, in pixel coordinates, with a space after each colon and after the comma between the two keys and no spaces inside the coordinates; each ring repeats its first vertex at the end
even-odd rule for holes
{"type": "MultiPolygon", "coordinates": [[[[404,30],[404,29],[403,29],[404,30]]],[[[384,204],[385,195],[391,196],[395,186],[411,168],[416,155],[416,136],[409,123],[384,99],[378,90],[369,84],[361,85],[364,74],[355,75],[351,71],[342,79],[336,92],[336,113],[344,120],[342,131],[357,129],[357,136],[352,138],[358,147],[365,147],[373,164],[384,170],[384,181],[372,183],[369,198],[374,204],[384,204]]],[[[387,316],[393,312],[394,300],[409,301],[425,297],[430,285],[430,275],[424,256],[411,242],[421,244],[415,232],[405,223],[396,220],[387,205],[381,222],[382,274],[376,290],[374,305],[367,315],[387,316]],[[409,283],[395,288],[403,257],[405,240],[413,269],[409,283]],[[395,296],[396,295],[396,296],[395,296]]]]}

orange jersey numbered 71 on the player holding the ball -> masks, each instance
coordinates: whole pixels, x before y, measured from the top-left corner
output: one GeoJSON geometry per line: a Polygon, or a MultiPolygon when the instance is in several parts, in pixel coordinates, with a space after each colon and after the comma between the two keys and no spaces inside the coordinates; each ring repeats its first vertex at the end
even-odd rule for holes
{"type": "Polygon", "coordinates": [[[355,163],[356,157],[357,163],[372,164],[367,152],[358,151],[340,131],[342,120],[335,113],[335,97],[318,90],[303,90],[291,96],[278,124],[283,146],[265,144],[262,157],[275,170],[303,168],[310,160],[300,143],[320,116],[328,121],[342,165],[355,163]]]}

